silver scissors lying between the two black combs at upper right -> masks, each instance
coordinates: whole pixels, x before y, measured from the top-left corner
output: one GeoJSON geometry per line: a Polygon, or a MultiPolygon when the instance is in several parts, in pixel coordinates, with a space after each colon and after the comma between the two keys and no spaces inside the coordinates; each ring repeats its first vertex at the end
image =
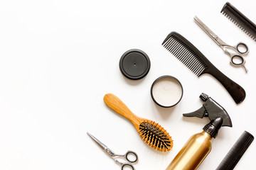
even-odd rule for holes
{"type": "Polygon", "coordinates": [[[242,66],[245,69],[245,72],[248,72],[248,70],[245,68],[245,59],[242,56],[245,56],[249,53],[249,49],[247,45],[243,42],[238,42],[237,45],[231,46],[223,42],[223,40],[220,40],[220,38],[213,33],[210,28],[208,28],[197,16],[195,16],[196,23],[212,38],[218,46],[222,48],[222,50],[230,56],[230,64],[233,66],[242,66]],[[229,52],[229,50],[235,51],[235,53],[229,52]]]}

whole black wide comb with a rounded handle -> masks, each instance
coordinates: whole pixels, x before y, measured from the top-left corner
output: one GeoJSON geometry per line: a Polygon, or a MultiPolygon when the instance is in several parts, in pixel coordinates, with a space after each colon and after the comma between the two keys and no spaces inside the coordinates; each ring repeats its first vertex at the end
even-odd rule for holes
{"type": "Polygon", "coordinates": [[[191,71],[200,77],[202,74],[211,74],[218,79],[227,89],[235,103],[241,103],[245,100],[245,90],[233,80],[226,77],[218,70],[191,42],[183,38],[182,35],[171,32],[162,45],[171,52],[178,60],[191,69],[191,71]]]}

